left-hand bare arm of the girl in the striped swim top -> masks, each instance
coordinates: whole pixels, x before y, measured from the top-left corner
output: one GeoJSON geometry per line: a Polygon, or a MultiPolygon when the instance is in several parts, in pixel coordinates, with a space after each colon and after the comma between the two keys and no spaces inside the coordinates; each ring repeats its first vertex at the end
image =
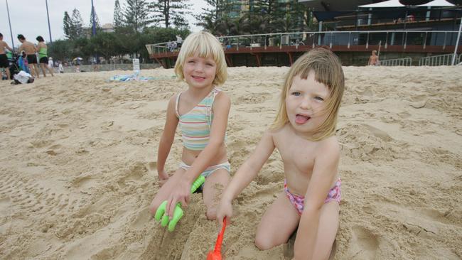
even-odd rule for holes
{"type": "Polygon", "coordinates": [[[163,133],[161,141],[159,141],[159,148],[157,151],[157,173],[161,180],[168,178],[168,175],[165,173],[164,166],[168,153],[170,153],[173,140],[175,139],[176,126],[178,126],[178,117],[176,117],[175,113],[175,103],[176,95],[171,97],[170,101],[168,101],[165,126],[163,126],[163,133]]]}

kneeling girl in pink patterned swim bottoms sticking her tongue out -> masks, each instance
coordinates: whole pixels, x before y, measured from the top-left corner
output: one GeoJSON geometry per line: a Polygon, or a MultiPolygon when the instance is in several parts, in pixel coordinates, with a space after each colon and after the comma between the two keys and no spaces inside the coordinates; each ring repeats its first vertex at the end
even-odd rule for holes
{"type": "Polygon", "coordinates": [[[262,250],[284,244],[298,227],[294,259],[328,259],[338,229],[335,124],[344,85],[342,66],[330,50],[313,49],[296,60],[286,75],[276,119],[223,193],[217,222],[232,217],[232,200],[277,148],[284,190],[264,213],[255,244],[262,250]]]}

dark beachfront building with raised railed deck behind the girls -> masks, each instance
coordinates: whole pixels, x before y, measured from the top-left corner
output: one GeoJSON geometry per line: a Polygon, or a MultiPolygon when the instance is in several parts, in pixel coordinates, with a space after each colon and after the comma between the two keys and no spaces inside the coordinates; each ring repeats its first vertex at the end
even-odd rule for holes
{"type": "MultiPolygon", "coordinates": [[[[462,48],[457,45],[462,7],[455,5],[462,4],[461,1],[299,2],[312,14],[311,29],[220,36],[218,38],[225,43],[227,64],[291,65],[304,52],[317,46],[333,50],[344,65],[366,65],[372,50],[377,50],[382,65],[451,65],[462,62],[462,48]]],[[[178,55],[165,51],[162,43],[146,45],[146,48],[151,58],[164,67],[168,67],[166,60],[174,64],[178,55]]]]}

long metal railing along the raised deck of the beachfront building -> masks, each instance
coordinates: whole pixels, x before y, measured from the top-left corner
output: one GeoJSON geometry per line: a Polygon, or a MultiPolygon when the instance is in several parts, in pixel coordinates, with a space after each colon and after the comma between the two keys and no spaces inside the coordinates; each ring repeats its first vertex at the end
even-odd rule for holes
{"type": "MultiPolygon", "coordinates": [[[[405,50],[408,45],[420,45],[425,49],[428,45],[439,46],[445,50],[448,45],[455,45],[458,31],[305,31],[296,33],[264,33],[241,36],[220,36],[218,40],[225,49],[235,48],[268,48],[284,45],[296,46],[344,45],[348,49],[355,45],[380,45],[387,50],[392,45],[402,46],[405,50]]],[[[167,53],[168,43],[146,44],[149,54],[167,53]]],[[[177,50],[177,49],[176,49],[177,50]]],[[[176,51],[175,50],[175,51],[176,51]]]]}

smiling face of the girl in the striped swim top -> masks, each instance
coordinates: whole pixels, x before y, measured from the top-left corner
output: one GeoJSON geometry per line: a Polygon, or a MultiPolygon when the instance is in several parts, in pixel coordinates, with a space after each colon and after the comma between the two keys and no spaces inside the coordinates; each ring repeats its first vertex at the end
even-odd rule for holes
{"type": "Polygon", "coordinates": [[[217,64],[211,57],[200,58],[197,53],[186,58],[183,65],[183,75],[189,87],[212,87],[217,64]]]}

